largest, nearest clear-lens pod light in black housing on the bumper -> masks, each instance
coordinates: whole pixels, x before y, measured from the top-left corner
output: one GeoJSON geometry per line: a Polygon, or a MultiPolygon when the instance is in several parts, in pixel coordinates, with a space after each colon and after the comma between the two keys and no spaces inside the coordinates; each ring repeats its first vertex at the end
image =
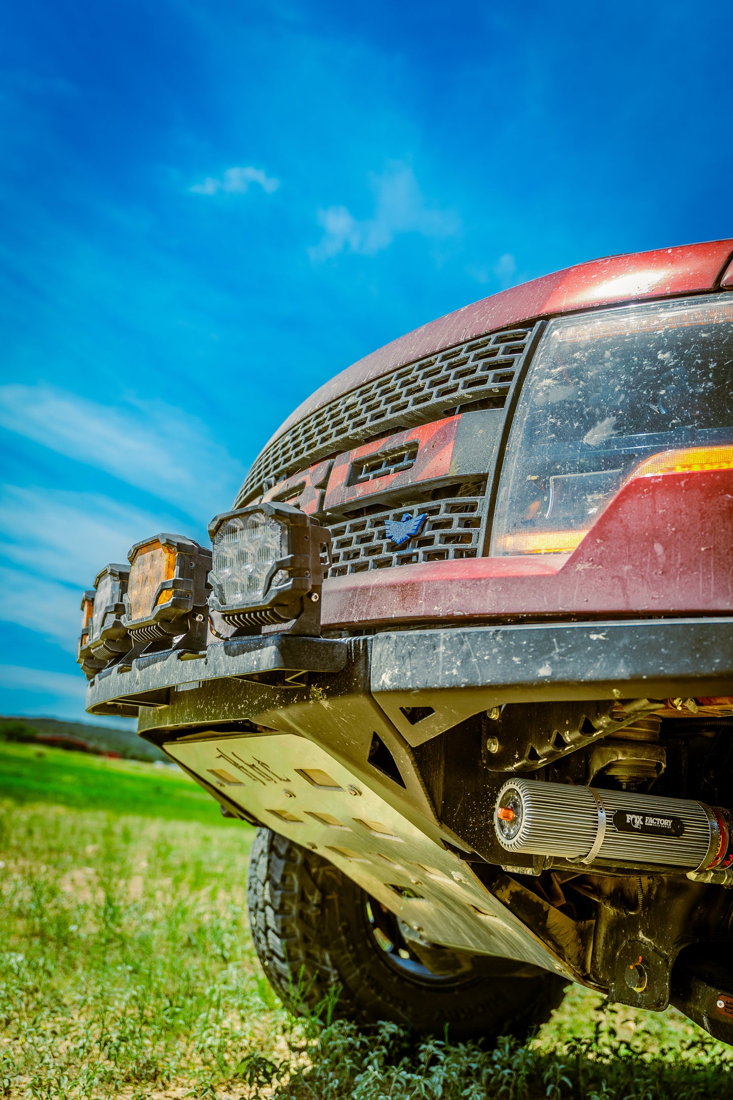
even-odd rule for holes
{"type": "Polygon", "coordinates": [[[327,530],[290,505],[251,504],[216,516],[209,534],[212,610],[249,632],[310,612],[296,632],[319,632],[313,613],[323,583],[321,550],[331,542],[327,530]]]}

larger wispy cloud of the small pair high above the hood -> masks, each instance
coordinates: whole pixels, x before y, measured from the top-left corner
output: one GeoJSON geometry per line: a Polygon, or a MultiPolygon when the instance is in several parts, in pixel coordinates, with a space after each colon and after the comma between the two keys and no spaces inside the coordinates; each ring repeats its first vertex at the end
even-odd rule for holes
{"type": "Polygon", "coordinates": [[[425,208],[412,168],[390,165],[381,176],[371,178],[375,211],[371,218],[358,221],[346,207],[319,210],[322,240],[309,249],[311,260],[322,262],[347,250],[373,256],[381,252],[398,233],[420,233],[422,237],[452,237],[458,232],[458,218],[449,210],[425,208]]]}

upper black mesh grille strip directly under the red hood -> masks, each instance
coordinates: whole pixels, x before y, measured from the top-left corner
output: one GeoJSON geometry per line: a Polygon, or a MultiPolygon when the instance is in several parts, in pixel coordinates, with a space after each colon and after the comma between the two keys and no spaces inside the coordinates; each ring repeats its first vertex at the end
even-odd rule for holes
{"type": "Polygon", "coordinates": [[[246,504],[284,477],[334,453],[466,408],[501,408],[533,327],[470,340],[344,394],[279,436],[236,498],[246,504]]]}

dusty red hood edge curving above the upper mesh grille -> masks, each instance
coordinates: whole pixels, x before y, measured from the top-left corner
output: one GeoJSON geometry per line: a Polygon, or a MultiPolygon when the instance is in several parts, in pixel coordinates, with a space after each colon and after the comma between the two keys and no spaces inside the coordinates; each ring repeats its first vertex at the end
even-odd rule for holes
{"type": "Polygon", "coordinates": [[[334,397],[485,332],[591,306],[713,290],[731,253],[733,240],[607,256],[481,298],[392,340],[336,374],[299,405],[265,446],[334,397]]]}

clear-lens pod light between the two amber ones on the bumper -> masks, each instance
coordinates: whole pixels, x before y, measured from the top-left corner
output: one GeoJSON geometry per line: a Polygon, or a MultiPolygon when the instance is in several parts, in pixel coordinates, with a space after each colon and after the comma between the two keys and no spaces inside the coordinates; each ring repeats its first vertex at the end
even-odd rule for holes
{"type": "Polygon", "coordinates": [[[81,598],[77,660],[88,676],[93,676],[114,657],[130,649],[127,631],[122,624],[129,576],[126,565],[105,565],[97,574],[93,590],[85,592],[81,598]]]}

